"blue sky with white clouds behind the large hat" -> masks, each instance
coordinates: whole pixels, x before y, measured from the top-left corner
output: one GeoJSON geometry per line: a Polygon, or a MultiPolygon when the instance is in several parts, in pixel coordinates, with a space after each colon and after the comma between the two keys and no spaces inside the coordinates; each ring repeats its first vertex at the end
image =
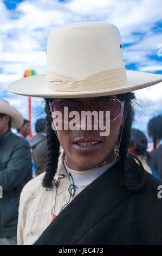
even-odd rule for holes
{"type": "MultiPolygon", "coordinates": [[[[28,118],[27,97],[8,93],[9,83],[34,69],[46,74],[50,31],[70,22],[106,21],[119,28],[126,69],[162,74],[162,19],[160,0],[0,0],[0,94],[28,118]],[[158,48],[159,47],[159,48],[158,48]],[[161,53],[161,54],[158,54],[161,53]]],[[[135,92],[134,127],[147,129],[150,118],[162,113],[161,83],[135,92]]],[[[33,121],[42,99],[33,98],[33,121]]]]}

